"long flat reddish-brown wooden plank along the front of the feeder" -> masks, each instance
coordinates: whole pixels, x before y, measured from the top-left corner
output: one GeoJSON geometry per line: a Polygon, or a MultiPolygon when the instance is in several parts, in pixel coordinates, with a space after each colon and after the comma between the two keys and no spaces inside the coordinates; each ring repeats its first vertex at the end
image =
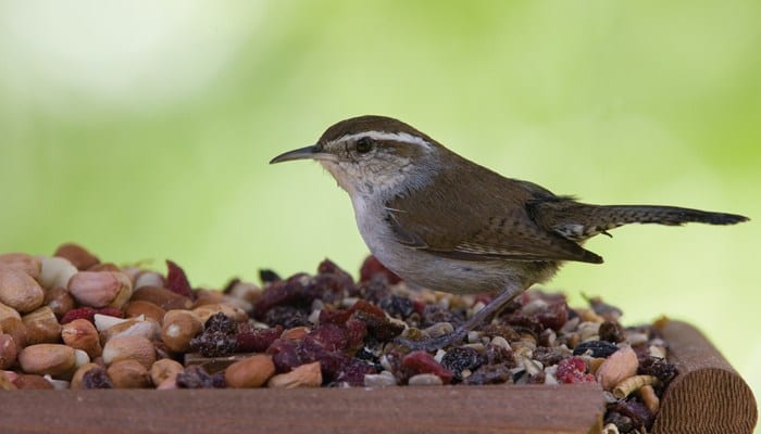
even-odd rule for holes
{"type": "Polygon", "coordinates": [[[11,433],[598,433],[597,384],[0,393],[11,433]]]}

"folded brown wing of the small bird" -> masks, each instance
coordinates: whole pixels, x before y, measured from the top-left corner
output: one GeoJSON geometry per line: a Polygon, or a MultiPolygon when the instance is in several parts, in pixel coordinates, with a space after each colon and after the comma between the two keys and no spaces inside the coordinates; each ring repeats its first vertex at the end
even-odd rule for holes
{"type": "Polygon", "coordinates": [[[536,224],[526,204],[537,194],[551,195],[547,190],[491,171],[479,182],[467,182],[473,179],[467,175],[438,175],[446,197],[421,190],[414,200],[404,194],[389,201],[387,220],[397,241],[463,260],[602,263],[598,255],[536,224]]]}

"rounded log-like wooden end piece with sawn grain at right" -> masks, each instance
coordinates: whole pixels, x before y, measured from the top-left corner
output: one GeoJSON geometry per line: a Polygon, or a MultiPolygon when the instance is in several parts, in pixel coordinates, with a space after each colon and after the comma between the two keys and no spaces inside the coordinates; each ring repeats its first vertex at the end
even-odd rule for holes
{"type": "Polygon", "coordinates": [[[653,432],[752,433],[758,421],[753,393],[719,350],[685,322],[669,321],[661,333],[679,374],[663,395],[653,432]]]}

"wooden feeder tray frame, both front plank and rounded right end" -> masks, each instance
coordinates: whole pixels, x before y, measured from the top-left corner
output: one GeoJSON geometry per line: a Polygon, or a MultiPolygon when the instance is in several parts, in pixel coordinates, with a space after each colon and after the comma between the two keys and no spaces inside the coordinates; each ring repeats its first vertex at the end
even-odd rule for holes
{"type": "MultiPolygon", "coordinates": [[[[668,321],[678,375],[654,433],[751,433],[748,384],[693,326],[668,321]]],[[[216,362],[224,365],[225,360],[216,362]]],[[[0,393],[2,433],[601,433],[597,383],[0,393]]]]}

